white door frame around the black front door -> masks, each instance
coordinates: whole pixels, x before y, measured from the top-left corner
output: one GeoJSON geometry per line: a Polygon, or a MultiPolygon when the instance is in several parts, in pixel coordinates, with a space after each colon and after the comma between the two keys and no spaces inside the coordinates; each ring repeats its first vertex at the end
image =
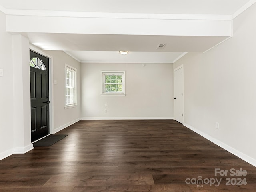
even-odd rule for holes
{"type": "Polygon", "coordinates": [[[51,55],[46,54],[45,52],[43,52],[42,50],[40,50],[39,48],[37,48],[36,46],[33,46],[32,44],[30,44],[29,49],[40,54],[43,55],[47,58],[49,58],[49,100],[50,100],[50,112],[49,112],[49,126],[50,126],[50,134],[54,134],[54,127],[53,127],[53,122],[54,122],[54,100],[53,100],[53,57],[51,55]]]}

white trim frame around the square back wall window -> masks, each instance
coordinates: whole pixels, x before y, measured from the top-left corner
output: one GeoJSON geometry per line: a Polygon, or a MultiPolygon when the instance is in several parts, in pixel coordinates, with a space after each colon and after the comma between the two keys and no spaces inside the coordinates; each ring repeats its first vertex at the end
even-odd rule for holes
{"type": "Polygon", "coordinates": [[[125,96],[125,71],[101,71],[101,86],[100,86],[101,96],[125,96]],[[122,93],[105,93],[104,92],[104,75],[114,74],[122,75],[122,93]]]}

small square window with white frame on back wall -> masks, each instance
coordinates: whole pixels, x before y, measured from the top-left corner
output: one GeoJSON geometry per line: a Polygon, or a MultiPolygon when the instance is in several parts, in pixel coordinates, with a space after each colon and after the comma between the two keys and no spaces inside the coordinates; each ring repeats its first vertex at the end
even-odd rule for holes
{"type": "Polygon", "coordinates": [[[125,71],[102,71],[101,94],[125,96],[125,71]]]}

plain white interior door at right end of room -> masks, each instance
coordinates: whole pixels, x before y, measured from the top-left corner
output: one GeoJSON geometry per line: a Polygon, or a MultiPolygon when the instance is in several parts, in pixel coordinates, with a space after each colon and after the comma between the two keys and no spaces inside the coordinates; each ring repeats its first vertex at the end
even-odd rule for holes
{"type": "Polygon", "coordinates": [[[174,70],[174,119],[183,124],[183,68],[174,70]]]}

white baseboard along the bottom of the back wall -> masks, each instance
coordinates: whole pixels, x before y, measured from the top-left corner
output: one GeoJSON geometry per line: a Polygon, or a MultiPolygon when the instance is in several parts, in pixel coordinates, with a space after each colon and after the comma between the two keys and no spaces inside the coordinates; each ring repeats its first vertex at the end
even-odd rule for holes
{"type": "Polygon", "coordinates": [[[154,120],[174,119],[174,117],[82,117],[81,120],[154,120]]]}

